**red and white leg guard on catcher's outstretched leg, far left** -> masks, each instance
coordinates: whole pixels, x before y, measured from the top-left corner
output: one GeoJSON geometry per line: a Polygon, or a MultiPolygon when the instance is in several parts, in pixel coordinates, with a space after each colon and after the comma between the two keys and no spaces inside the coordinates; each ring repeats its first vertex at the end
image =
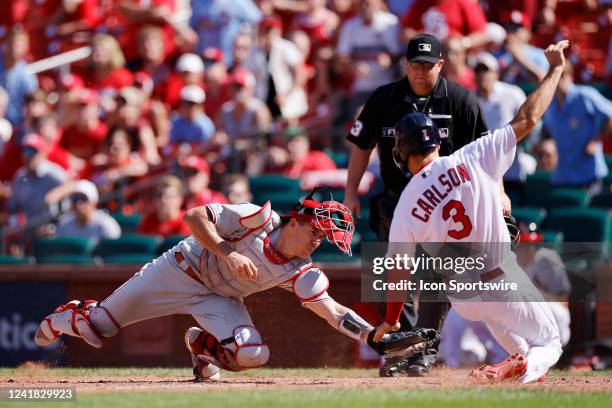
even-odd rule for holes
{"type": "Polygon", "coordinates": [[[59,306],[40,323],[34,341],[39,346],[47,346],[56,342],[61,334],[67,334],[80,337],[87,344],[101,348],[103,337],[89,318],[90,311],[96,306],[95,300],[73,300],[59,306]]]}

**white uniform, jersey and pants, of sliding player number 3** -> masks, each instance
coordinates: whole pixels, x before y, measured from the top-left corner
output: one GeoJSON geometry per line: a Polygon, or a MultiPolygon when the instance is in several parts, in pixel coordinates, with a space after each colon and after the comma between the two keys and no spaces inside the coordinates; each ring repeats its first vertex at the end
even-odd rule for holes
{"type": "Polygon", "coordinates": [[[507,242],[506,246],[494,246],[500,251],[490,256],[488,270],[503,263],[504,278],[517,278],[520,291],[484,291],[480,294],[484,302],[452,296],[449,300],[465,319],[484,321],[508,353],[527,356],[529,364],[521,377],[526,383],[540,378],[557,362],[561,341],[550,307],[533,301],[537,290],[510,250],[499,181],[515,152],[516,137],[506,125],[422,168],[402,192],[395,209],[389,250],[395,252],[393,243],[400,242],[507,242]]]}

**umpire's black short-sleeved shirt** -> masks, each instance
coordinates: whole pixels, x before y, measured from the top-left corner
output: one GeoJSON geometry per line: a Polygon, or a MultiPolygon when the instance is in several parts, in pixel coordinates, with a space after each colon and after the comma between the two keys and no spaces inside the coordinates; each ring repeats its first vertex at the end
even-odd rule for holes
{"type": "Polygon", "coordinates": [[[346,138],[364,150],[378,145],[385,189],[397,197],[409,179],[397,168],[391,154],[395,146],[395,125],[405,114],[417,111],[429,115],[441,130],[442,156],[489,132],[476,96],[441,76],[425,98],[414,94],[407,77],[377,88],[346,138]]]}

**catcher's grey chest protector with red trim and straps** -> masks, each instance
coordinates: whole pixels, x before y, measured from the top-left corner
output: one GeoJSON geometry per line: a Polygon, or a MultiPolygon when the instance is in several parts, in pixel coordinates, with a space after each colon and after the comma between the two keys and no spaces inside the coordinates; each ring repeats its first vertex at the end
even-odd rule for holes
{"type": "MultiPolygon", "coordinates": [[[[250,226],[254,228],[245,228],[244,234],[228,241],[236,252],[253,261],[257,267],[256,281],[238,280],[234,271],[230,270],[224,262],[219,262],[215,254],[202,248],[195,238],[189,237],[184,241],[190,246],[191,257],[188,258],[191,258],[196,268],[199,266],[202,282],[221,296],[244,297],[254,292],[273,288],[293,278],[300,269],[311,263],[310,259],[300,260],[298,258],[286,263],[277,263],[280,262],[280,259],[274,257],[274,251],[264,248],[266,245],[270,246],[280,233],[280,229],[275,230],[281,224],[278,214],[269,210],[269,215],[262,217],[260,222],[251,221],[254,222],[251,222],[250,226]],[[194,255],[199,256],[195,262],[193,262],[194,255]]],[[[184,250],[183,252],[185,253],[184,250]]]]}

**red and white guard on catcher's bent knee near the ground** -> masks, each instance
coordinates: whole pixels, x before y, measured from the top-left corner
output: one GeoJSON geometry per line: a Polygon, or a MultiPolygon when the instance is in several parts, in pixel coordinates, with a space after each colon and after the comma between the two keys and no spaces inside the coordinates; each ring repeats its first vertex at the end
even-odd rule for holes
{"type": "Polygon", "coordinates": [[[238,326],[233,336],[217,340],[212,334],[192,327],[185,334],[189,351],[199,359],[229,371],[242,371],[264,365],[270,349],[252,326],[238,326]]]}

